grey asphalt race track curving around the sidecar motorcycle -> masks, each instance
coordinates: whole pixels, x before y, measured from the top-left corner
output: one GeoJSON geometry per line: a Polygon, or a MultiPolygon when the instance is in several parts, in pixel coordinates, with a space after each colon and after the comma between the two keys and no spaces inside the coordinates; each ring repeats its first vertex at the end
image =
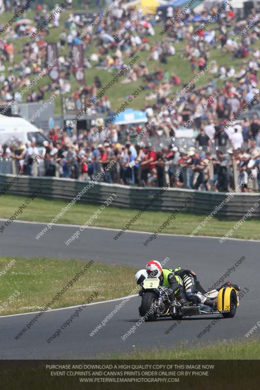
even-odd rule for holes
{"type": "MultiPolygon", "coordinates": [[[[1,359],[93,358],[140,347],[174,347],[180,341],[195,344],[245,339],[244,334],[260,319],[260,242],[226,240],[220,244],[217,238],[160,235],[144,246],[142,242],[150,234],[127,232],[115,241],[115,230],[88,228],[78,240],[67,246],[64,241],[75,233],[76,227],[54,226],[40,240],[36,240],[35,235],[44,226],[45,224],[13,222],[0,236],[0,255],[93,259],[138,268],[144,268],[148,260],[169,257],[166,267],[181,265],[183,268],[193,269],[204,288],[211,287],[228,268],[231,269],[245,256],[246,259],[232,271],[229,280],[238,283],[243,290],[247,288],[249,292],[240,300],[240,307],[234,318],[217,321],[200,339],[197,334],[211,324],[216,316],[184,319],[169,334],[164,331],[173,324],[173,320],[142,323],[134,334],[122,340],[120,336],[140,319],[139,297],[131,298],[94,336],[89,333],[121,300],[88,305],[50,344],[46,339],[60,328],[76,308],[45,312],[19,340],[14,337],[34,314],[3,316],[0,317],[1,359]]],[[[254,334],[257,336],[257,331],[254,334]]]]}

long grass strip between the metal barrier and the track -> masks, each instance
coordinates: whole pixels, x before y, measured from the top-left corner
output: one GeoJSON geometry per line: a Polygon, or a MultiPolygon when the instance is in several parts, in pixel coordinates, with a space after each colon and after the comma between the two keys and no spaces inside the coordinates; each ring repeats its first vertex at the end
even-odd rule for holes
{"type": "MultiPolygon", "coordinates": [[[[0,205],[0,218],[10,218],[17,209],[28,199],[25,196],[4,195],[4,202],[0,205]]],[[[17,219],[25,221],[37,221],[49,223],[62,207],[68,204],[66,200],[49,200],[36,198],[30,205],[23,210],[17,219]]],[[[94,204],[74,204],[73,208],[69,209],[60,217],[57,223],[68,223],[83,225],[91,215],[100,206],[94,204]]],[[[113,206],[106,207],[102,213],[92,222],[91,226],[122,229],[131,218],[136,215],[136,210],[123,209],[113,206]]],[[[130,230],[156,232],[160,225],[167,220],[171,215],[170,212],[147,211],[145,215],[141,215],[135,223],[130,226],[130,230]]],[[[191,234],[196,227],[203,221],[207,215],[194,215],[189,213],[180,213],[176,215],[176,219],[170,221],[169,225],[163,230],[167,234],[191,234]]],[[[237,219],[226,219],[226,217],[214,216],[210,221],[201,228],[197,235],[207,236],[224,236],[231,228],[233,228],[237,219]]],[[[1,225],[1,224],[0,224],[1,225]]],[[[5,228],[8,229],[8,227],[5,228]]],[[[233,238],[244,239],[259,239],[260,221],[257,219],[247,219],[236,229],[233,238]]],[[[3,236],[5,230],[2,232],[3,236]]],[[[36,232],[36,234],[39,232],[36,232]]],[[[47,233],[49,234],[49,233],[47,233]]]]}

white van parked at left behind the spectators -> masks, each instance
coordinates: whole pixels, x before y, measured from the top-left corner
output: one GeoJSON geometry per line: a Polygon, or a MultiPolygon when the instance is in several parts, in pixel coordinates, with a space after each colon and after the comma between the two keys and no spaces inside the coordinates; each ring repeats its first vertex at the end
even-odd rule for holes
{"type": "Polygon", "coordinates": [[[0,115],[0,144],[18,143],[18,141],[24,144],[27,141],[36,141],[39,153],[42,154],[43,141],[49,141],[49,139],[24,118],[0,115]]]}

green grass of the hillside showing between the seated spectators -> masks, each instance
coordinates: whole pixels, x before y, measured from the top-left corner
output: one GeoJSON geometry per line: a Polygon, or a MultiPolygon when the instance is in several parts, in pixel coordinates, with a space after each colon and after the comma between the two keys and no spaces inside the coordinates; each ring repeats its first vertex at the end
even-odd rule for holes
{"type": "MultiPolygon", "coordinates": [[[[80,11],[82,12],[82,9],[80,11]]],[[[60,27],[50,29],[50,34],[44,38],[47,42],[58,42],[59,41],[59,35],[60,35],[61,31],[64,30],[64,22],[68,19],[69,14],[71,12],[72,12],[71,10],[66,10],[60,14],[60,27]]],[[[75,10],[73,10],[73,12],[75,12],[75,10]]],[[[34,16],[34,11],[30,11],[30,12],[26,13],[26,18],[33,19],[33,16],[34,16]]],[[[12,13],[1,14],[0,15],[0,23],[4,24],[4,23],[6,23],[7,20],[11,19],[12,17],[13,17],[12,13]]],[[[156,40],[161,40],[161,39],[165,38],[165,36],[159,35],[159,32],[162,29],[162,27],[163,26],[161,23],[157,24],[155,26],[155,31],[156,31],[155,36],[148,37],[148,41],[150,44],[152,44],[156,40]]],[[[212,23],[212,28],[217,28],[217,24],[212,23]]],[[[2,34],[2,38],[4,38],[4,37],[6,37],[6,33],[2,34]]],[[[15,53],[16,54],[15,54],[14,61],[20,62],[20,60],[23,58],[23,55],[19,54],[19,51],[22,48],[22,45],[28,41],[31,41],[31,39],[28,37],[20,37],[20,38],[15,39],[14,43],[15,43],[15,53]]],[[[176,73],[180,77],[181,82],[189,81],[192,78],[192,75],[190,72],[190,64],[189,64],[187,59],[180,57],[183,54],[183,48],[184,48],[185,44],[186,44],[186,41],[182,41],[179,43],[174,42],[174,47],[176,48],[176,55],[172,56],[172,57],[167,57],[167,64],[161,64],[158,61],[148,61],[147,65],[148,65],[149,70],[151,72],[153,72],[155,69],[168,70],[170,74],[176,73]]],[[[255,46],[257,46],[257,43],[255,44],[255,46]]],[[[85,52],[85,57],[89,57],[92,53],[95,52],[95,50],[96,50],[96,47],[95,47],[95,45],[92,44],[90,47],[88,47],[87,51],[85,52]]],[[[59,54],[61,55],[62,53],[59,52],[59,54]]],[[[111,51],[110,54],[113,54],[113,52],[111,51]]],[[[140,56],[139,62],[141,60],[147,59],[147,55],[148,55],[147,52],[137,52],[137,54],[140,56]]],[[[68,55],[68,47],[67,46],[66,46],[66,49],[65,49],[63,55],[68,55]]],[[[252,53],[250,53],[250,56],[252,56],[252,53]]],[[[210,51],[210,60],[211,59],[217,60],[217,63],[219,66],[222,64],[228,64],[228,63],[230,63],[230,54],[222,54],[222,53],[220,53],[220,49],[217,49],[215,46],[213,46],[211,51],[210,51]]],[[[92,63],[92,65],[95,65],[95,63],[92,63]]],[[[232,65],[238,71],[241,67],[241,60],[240,59],[233,60],[232,65]]],[[[5,72],[2,72],[2,73],[5,73],[5,75],[7,75],[8,74],[7,69],[9,66],[11,66],[10,62],[8,62],[8,61],[5,62],[5,72]]],[[[85,69],[86,84],[90,85],[93,82],[94,77],[99,76],[102,83],[104,85],[106,85],[106,83],[109,82],[116,74],[117,74],[117,72],[109,73],[106,70],[97,70],[95,68],[85,69]]],[[[32,80],[33,78],[35,78],[35,76],[31,75],[29,78],[32,80]]],[[[205,77],[200,78],[200,80],[196,83],[196,86],[206,84],[208,82],[209,78],[211,78],[210,74],[207,74],[205,77]]],[[[44,78],[42,78],[38,82],[35,89],[38,91],[39,86],[43,86],[47,82],[48,83],[50,82],[50,78],[48,76],[45,76],[44,78]]],[[[72,87],[71,91],[72,92],[77,90],[80,87],[80,84],[75,80],[73,75],[71,75],[70,82],[71,82],[71,87],[72,87]]],[[[218,80],[218,86],[220,86],[222,84],[223,84],[223,80],[218,80]]],[[[133,91],[135,91],[135,89],[137,89],[140,85],[142,85],[141,79],[139,79],[136,82],[132,82],[131,84],[120,84],[120,81],[119,81],[119,83],[116,86],[111,87],[106,92],[106,95],[108,96],[108,98],[110,99],[110,101],[112,103],[112,108],[116,109],[117,107],[119,107],[120,104],[125,101],[125,97],[128,96],[129,94],[131,94],[133,91]]],[[[260,83],[259,83],[259,87],[260,87],[260,83]]],[[[175,93],[176,89],[177,88],[174,88],[172,90],[172,94],[170,95],[170,98],[174,97],[174,93],[175,93]]],[[[140,96],[138,96],[137,98],[135,98],[131,102],[131,105],[129,105],[129,108],[134,108],[134,109],[143,108],[144,99],[149,94],[150,94],[150,92],[143,91],[140,94],[140,96]]],[[[45,93],[44,99],[46,100],[47,98],[50,97],[50,95],[51,95],[50,92],[45,93]]],[[[65,96],[65,95],[63,95],[63,96],[65,96]]],[[[22,101],[26,102],[25,95],[23,96],[22,101]]],[[[61,101],[58,98],[55,101],[55,114],[58,115],[60,113],[61,113],[61,101]]]]}

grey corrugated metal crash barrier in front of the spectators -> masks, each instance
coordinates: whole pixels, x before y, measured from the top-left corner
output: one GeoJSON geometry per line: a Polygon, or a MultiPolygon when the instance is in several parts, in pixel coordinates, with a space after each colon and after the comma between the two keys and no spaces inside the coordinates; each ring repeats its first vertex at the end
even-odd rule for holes
{"type": "MultiPolygon", "coordinates": [[[[74,179],[62,179],[56,177],[32,177],[21,176],[19,180],[13,180],[15,175],[0,174],[1,194],[30,195],[36,189],[40,189],[40,196],[52,199],[73,199],[86,185],[87,181],[74,179]],[[10,184],[12,181],[12,184],[10,184]]],[[[90,187],[90,186],[88,186],[90,187]]],[[[95,183],[81,197],[80,203],[102,204],[110,195],[117,194],[113,205],[124,208],[140,209],[153,200],[149,210],[173,211],[181,210],[183,200],[193,194],[191,202],[185,207],[185,211],[196,214],[209,214],[220,205],[228,193],[203,192],[177,188],[130,187],[119,184],[95,183]],[[158,196],[156,196],[158,195],[158,196]],[[155,200],[156,197],[156,200],[155,200]]],[[[241,217],[253,208],[259,199],[259,194],[235,194],[227,202],[224,202],[218,215],[226,217],[241,217]]],[[[255,207],[252,217],[260,217],[260,208],[255,207]]]]}

